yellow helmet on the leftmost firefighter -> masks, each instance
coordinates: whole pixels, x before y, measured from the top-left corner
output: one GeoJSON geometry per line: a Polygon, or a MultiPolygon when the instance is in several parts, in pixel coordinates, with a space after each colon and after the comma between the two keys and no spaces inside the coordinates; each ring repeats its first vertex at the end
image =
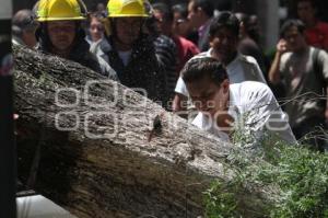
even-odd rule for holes
{"type": "Polygon", "coordinates": [[[36,20],[39,22],[84,20],[85,13],[86,8],[79,0],[39,0],[36,8],[36,20]],[[82,13],[80,4],[84,13],[82,13]]]}

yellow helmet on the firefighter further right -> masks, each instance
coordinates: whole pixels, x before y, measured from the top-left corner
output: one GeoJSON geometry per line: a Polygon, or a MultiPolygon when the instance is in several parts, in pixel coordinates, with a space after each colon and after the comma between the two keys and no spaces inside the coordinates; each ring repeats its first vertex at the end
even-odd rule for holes
{"type": "Polygon", "coordinates": [[[143,0],[109,0],[109,18],[148,16],[143,0]]]}

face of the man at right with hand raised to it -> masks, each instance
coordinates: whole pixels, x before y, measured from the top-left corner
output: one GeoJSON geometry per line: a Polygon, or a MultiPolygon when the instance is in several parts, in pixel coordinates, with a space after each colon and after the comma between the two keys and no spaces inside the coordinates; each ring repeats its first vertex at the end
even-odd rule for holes
{"type": "Polygon", "coordinates": [[[283,38],[286,41],[288,48],[291,51],[297,51],[305,45],[304,36],[298,32],[296,26],[291,26],[285,33],[283,38]]]}

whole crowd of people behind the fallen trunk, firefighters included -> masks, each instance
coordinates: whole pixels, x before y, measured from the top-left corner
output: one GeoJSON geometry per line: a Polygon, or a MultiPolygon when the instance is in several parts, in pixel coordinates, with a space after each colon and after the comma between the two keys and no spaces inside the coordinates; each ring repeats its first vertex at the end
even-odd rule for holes
{"type": "Polygon", "coordinates": [[[325,134],[311,136],[328,121],[328,24],[314,1],[297,0],[272,60],[255,15],[214,13],[212,2],[109,0],[89,13],[82,0],[39,0],[14,15],[13,43],[143,90],[168,111],[191,102],[192,124],[222,140],[243,123],[256,141],[268,133],[289,144],[307,136],[313,149],[327,150],[325,134]]]}

